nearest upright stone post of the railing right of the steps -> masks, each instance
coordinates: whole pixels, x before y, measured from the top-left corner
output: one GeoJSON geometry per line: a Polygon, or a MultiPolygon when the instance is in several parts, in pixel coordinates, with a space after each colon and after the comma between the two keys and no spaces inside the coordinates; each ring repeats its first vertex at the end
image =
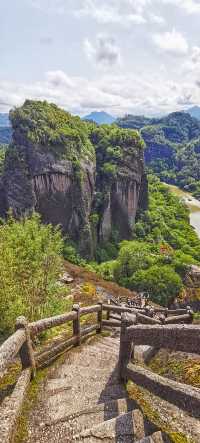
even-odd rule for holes
{"type": "Polygon", "coordinates": [[[131,359],[132,342],[127,337],[127,326],[130,324],[130,320],[127,318],[127,314],[122,314],[121,321],[121,334],[120,334],[120,349],[119,349],[119,376],[120,380],[126,383],[126,367],[131,359]]]}

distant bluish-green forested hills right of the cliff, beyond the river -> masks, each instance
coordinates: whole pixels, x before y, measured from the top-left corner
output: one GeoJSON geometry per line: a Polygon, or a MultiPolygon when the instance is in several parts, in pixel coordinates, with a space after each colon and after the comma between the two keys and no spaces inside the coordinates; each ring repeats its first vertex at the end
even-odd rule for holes
{"type": "Polygon", "coordinates": [[[199,120],[185,112],[174,112],[160,119],[127,115],[117,124],[140,130],[150,172],[200,199],[199,120]]]}

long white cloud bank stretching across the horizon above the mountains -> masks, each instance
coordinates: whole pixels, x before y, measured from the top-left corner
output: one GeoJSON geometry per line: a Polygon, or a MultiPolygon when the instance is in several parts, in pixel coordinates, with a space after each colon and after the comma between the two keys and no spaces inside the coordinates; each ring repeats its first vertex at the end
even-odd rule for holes
{"type": "Polygon", "coordinates": [[[104,109],[114,115],[127,112],[152,115],[184,109],[186,103],[199,103],[199,85],[194,79],[180,83],[168,81],[165,75],[106,72],[99,79],[89,80],[51,71],[32,85],[0,82],[0,109],[7,111],[30,98],[47,100],[81,115],[94,109],[104,109]]]}

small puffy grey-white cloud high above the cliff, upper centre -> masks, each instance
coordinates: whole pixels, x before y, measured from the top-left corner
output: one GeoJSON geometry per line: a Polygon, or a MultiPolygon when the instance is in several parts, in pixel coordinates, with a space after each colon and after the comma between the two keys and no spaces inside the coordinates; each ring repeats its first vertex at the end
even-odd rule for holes
{"type": "Polygon", "coordinates": [[[91,43],[86,39],[84,49],[89,59],[104,67],[111,67],[120,63],[120,49],[111,36],[98,35],[95,43],[91,43]]]}

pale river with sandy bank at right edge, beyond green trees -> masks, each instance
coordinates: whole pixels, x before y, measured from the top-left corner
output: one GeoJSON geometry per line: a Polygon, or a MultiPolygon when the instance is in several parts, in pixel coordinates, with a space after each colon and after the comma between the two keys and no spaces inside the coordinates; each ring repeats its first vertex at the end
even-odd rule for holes
{"type": "Polygon", "coordinates": [[[190,224],[200,237],[200,201],[194,198],[189,192],[182,191],[177,186],[167,185],[173,194],[180,197],[190,210],[190,224]]]}

